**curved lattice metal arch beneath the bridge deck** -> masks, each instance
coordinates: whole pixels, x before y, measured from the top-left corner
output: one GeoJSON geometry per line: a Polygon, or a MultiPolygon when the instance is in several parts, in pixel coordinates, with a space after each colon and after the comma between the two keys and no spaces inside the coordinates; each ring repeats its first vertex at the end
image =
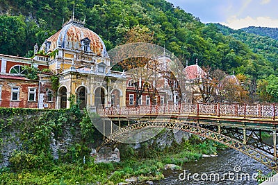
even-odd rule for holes
{"type": "Polygon", "coordinates": [[[161,122],[161,121],[146,121],[135,123],[133,125],[128,125],[126,127],[122,127],[120,130],[113,132],[104,142],[97,148],[97,151],[106,146],[106,144],[111,142],[117,142],[121,136],[125,133],[130,132],[132,130],[139,130],[146,127],[163,127],[163,128],[170,128],[175,130],[182,130],[183,132],[190,132],[195,135],[203,136],[207,139],[211,139],[213,141],[218,141],[219,143],[228,146],[229,148],[233,148],[242,152],[243,154],[259,161],[261,164],[268,166],[270,169],[277,169],[277,163],[275,159],[266,155],[265,153],[252,148],[251,146],[247,146],[244,143],[237,141],[236,139],[232,139],[229,136],[225,136],[218,132],[213,132],[211,130],[206,130],[202,127],[198,127],[197,125],[192,125],[190,123],[180,123],[180,122],[161,122]]]}

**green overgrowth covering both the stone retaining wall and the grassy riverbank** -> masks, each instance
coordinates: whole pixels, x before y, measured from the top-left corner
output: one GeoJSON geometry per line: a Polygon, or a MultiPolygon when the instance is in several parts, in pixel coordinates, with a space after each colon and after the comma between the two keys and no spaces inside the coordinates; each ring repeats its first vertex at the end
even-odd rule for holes
{"type": "MultiPolygon", "coordinates": [[[[183,165],[199,159],[202,153],[215,153],[218,147],[197,136],[164,149],[147,142],[138,150],[122,145],[119,164],[95,164],[90,157],[97,135],[95,127],[87,112],[76,111],[75,97],[70,101],[70,109],[0,108],[0,135],[9,139],[1,141],[1,150],[2,142],[17,146],[9,159],[10,166],[0,170],[0,184],[116,184],[138,176],[140,180],[162,179],[165,164],[183,165]],[[66,152],[60,150],[59,159],[54,159],[51,138],[63,141],[69,134],[72,145],[66,152]]],[[[99,119],[97,115],[91,117],[92,121],[99,119]]]]}

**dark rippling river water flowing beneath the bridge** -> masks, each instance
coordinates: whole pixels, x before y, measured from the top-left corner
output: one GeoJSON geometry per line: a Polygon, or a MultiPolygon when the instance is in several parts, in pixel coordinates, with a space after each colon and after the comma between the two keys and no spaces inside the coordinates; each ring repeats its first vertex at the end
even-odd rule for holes
{"type": "Polygon", "coordinates": [[[256,176],[257,170],[261,170],[263,174],[271,172],[263,164],[233,149],[220,150],[217,157],[206,157],[185,164],[183,170],[186,171],[167,170],[164,172],[166,178],[154,184],[253,185],[258,184],[256,179],[252,178],[256,176]]]}

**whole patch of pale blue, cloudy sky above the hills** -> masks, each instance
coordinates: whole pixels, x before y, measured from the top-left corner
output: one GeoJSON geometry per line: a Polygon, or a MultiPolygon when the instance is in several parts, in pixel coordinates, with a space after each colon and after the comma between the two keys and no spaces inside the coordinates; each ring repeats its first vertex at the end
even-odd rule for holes
{"type": "Polygon", "coordinates": [[[224,24],[240,29],[248,26],[278,28],[277,0],[167,0],[203,23],[224,24]]]}

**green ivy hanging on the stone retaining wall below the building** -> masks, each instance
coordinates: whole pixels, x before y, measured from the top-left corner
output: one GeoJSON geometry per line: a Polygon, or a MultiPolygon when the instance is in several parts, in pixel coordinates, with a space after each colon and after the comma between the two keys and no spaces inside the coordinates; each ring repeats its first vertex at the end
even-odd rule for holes
{"type": "Polygon", "coordinates": [[[6,145],[2,140],[5,136],[17,145],[10,156],[10,166],[14,170],[48,168],[55,161],[51,137],[56,141],[65,139],[69,130],[74,139],[67,152],[59,151],[60,161],[76,163],[90,155],[88,146],[94,142],[90,137],[94,127],[87,112],[76,109],[78,106],[74,109],[0,108],[0,151],[6,145]]]}

